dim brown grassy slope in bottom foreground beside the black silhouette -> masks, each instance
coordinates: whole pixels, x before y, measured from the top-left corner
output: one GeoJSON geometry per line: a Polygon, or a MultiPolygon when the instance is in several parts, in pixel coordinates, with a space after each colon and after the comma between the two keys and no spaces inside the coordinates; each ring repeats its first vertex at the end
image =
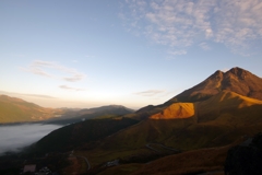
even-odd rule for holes
{"type": "Polygon", "coordinates": [[[169,155],[143,165],[132,175],[176,175],[223,171],[228,149],[237,143],[239,143],[239,141],[226,147],[201,149],[169,155]]]}

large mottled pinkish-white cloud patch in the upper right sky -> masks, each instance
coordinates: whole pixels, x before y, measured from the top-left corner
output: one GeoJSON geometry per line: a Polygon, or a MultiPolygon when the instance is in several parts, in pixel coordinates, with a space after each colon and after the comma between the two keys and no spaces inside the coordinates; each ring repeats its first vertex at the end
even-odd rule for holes
{"type": "Polygon", "coordinates": [[[248,55],[262,38],[261,0],[126,0],[124,5],[119,16],[129,31],[174,50],[215,42],[248,55]]]}

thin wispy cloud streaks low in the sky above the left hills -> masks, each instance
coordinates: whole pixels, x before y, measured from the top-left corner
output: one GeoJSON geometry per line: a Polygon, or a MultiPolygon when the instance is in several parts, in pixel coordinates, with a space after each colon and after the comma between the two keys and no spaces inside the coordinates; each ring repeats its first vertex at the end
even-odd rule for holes
{"type": "Polygon", "coordinates": [[[69,82],[76,82],[83,80],[86,75],[81,73],[72,68],[67,68],[56,62],[43,61],[43,60],[35,60],[33,61],[28,68],[21,68],[23,71],[27,71],[34,74],[52,78],[52,79],[61,79],[69,82]],[[59,71],[57,74],[68,74],[63,77],[59,77],[53,72],[53,70],[59,71]]]}

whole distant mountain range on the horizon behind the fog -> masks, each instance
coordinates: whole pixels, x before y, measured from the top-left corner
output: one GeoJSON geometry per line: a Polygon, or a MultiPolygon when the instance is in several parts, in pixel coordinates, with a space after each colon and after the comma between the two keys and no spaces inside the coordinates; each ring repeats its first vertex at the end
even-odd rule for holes
{"type": "Polygon", "coordinates": [[[111,118],[133,113],[120,105],[94,108],[46,108],[21,98],[0,95],[0,124],[43,121],[48,124],[72,124],[92,118],[111,118]]]}

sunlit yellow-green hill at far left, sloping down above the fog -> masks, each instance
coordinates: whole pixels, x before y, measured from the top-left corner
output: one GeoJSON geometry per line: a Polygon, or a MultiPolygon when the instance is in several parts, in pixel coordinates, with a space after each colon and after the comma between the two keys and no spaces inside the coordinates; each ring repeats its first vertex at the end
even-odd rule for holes
{"type": "Polygon", "coordinates": [[[0,95],[0,124],[39,121],[62,114],[61,109],[40,107],[8,95],[0,95]]]}

